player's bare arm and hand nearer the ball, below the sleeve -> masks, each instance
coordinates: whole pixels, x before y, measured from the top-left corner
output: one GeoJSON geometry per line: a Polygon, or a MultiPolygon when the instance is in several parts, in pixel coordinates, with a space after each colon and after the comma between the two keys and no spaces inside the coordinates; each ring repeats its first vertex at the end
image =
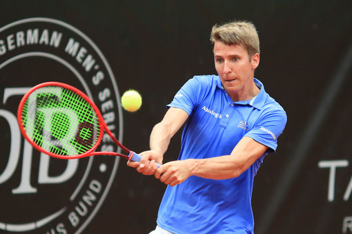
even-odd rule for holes
{"type": "Polygon", "coordinates": [[[157,164],[162,164],[164,153],[168,149],[171,138],[186,122],[188,114],[183,109],[170,107],[162,122],[153,127],[150,134],[150,150],[140,153],[141,162],[128,161],[128,167],[135,167],[139,173],[152,175],[157,170],[157,164]]]}

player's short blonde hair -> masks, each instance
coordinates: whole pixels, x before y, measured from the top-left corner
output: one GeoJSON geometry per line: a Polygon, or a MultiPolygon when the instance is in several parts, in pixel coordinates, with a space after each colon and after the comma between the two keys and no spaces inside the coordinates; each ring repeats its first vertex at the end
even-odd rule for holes
{"type": "Polygon", "coordinates": [[[248,21],[232,21],[215,24],[211,29],[211,43],[221,41],[226,45],[239,45],[247,50],[249,60],[255,53],[260,54],[260,43],[255,25],[248,21]]]}

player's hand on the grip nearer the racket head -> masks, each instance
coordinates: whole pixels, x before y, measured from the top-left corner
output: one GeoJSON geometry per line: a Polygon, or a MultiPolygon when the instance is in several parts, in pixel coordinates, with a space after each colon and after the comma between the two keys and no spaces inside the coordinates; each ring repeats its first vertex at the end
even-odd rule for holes
{"type": "Polygon", "coordinates": [[[157,150],[148,150],[139,153],[141,158],[141,162],[133,162],[128,161],[128,167],[134,167],[139,173],[143,175],[154,175],[155,171],[157,171],[157,164],[162,164],[164,154],[161,151],[157,150]]]}

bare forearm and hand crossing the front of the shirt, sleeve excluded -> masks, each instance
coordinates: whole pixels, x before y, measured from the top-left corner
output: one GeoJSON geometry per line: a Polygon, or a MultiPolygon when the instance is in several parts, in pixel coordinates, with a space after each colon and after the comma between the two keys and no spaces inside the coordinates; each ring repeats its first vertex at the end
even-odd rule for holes
{"type": "Polygon", "coordinates": [[[244,136],[231,155],[168,162],[157,169],[155,178],[170,186],[184,182],[190,175],[214,180],[236,178],[267,149],[265,145],[244,136]]]}

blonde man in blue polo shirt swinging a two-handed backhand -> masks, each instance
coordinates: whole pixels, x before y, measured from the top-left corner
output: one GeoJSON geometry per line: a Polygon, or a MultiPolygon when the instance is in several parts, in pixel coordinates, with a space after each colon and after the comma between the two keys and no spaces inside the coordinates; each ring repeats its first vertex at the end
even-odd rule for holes
{"type": "Polygon", "coordinates": [[[284,109],[253,77],[260,62],[255,26],[215,25],[211,42],[218,76],[190,79],[153,128],[150,150],[140,163],[128,162],[169,185],[153,233],[253,233],[253,179],[286,125],[284,109]],[[157,169],[185,122],[179,160],[157,169]]]}

